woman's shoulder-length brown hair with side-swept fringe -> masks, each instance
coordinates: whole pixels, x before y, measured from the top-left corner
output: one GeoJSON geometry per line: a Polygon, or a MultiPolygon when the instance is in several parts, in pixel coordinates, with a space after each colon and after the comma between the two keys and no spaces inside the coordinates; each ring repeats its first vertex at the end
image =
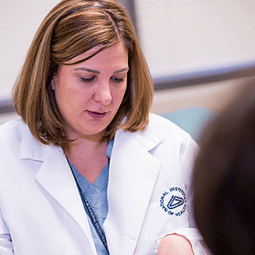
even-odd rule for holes
{"type": "Polygon", "coordinates": [[[63,0],[39,27],[13,88],[15,110],[39,141],[59,146],[69,142],[51,88],[59,65],[95,46],[103,45],[101,51],[119,41],[128,50],[128,84],[106,135],[111,139],[117,128],[135,132],[146,127],[153,83],[128,14],[115,0],[63,0]]]}

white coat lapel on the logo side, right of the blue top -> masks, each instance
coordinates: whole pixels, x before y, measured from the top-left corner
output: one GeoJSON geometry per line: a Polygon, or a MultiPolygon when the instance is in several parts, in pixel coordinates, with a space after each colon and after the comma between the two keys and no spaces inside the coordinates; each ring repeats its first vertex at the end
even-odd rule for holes
{"type": "Polygon", "coordinates": [[[148,129],[133,134],[118,130],[115,135],[109,169],[109,212],[104,224],[110,252],[114,251],[111,254],[134,254],[160,169],[150,150],[161,140],[156,130],[148,129]]]}

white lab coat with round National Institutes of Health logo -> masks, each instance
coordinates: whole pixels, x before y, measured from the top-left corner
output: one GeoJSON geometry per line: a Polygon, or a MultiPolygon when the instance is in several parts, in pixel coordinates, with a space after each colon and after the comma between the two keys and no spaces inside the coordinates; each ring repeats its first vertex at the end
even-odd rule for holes
{"type": "MultiPolygon", "coordinates": [[[[103,226],[111,255],[155,255],[170,233],[186,236],[196,255],[205,254],[186,208],[196,150],[187,133],[154,114],[143,131],[116,132],[103,226]]],[[[62,149],[39,143],[21,120],[0,128],[0,254],[13,250],[96,254],[62,149]]]]}

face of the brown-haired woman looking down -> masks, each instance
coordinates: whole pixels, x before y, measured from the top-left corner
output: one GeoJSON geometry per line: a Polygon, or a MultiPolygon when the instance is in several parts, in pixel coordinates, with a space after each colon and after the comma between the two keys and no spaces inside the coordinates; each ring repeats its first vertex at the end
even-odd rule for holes
{"type": "MultiPolygon", "coordinates": [[[[102,46],[66,62],[84,59],[102,46]]],[[[61,65],[52,87],[70,139],[101,139],[127,88],[128,52],[119,42],[75,65],[61,65]]]]}

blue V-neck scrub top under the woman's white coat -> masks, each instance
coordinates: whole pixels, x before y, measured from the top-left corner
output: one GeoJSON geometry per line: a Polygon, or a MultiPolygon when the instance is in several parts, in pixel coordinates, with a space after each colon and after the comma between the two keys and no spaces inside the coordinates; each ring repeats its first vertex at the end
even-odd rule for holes
{"type": "MultiPolygon", "coordinates": [[[[110,159],[113,147],[113,140],[108,143],[108,147],[106,150],[106,156],[110,159]]],[[[100,173],[94,184],[92,185],[84,176],[82,176],[77,169],[69,162],[72,172],[75,176],[75,179],[80,186],[81,191],[85,195],[88,200],[98,222],[103,230],[103,223],[106,219],[108,213],[108,201],[107,201],[107,187],[108,187],[108,179],[109,179],[109,165],[108,163],[104,167],[103,171],[100,173]]],[[[81,199],[82,194],[80,193],[81,199]]],[[[87,207],[82,199],[84,209],[87,213],[92,237],[96,246],[97,254],[99,255],[108,255],[100,237],[97,234],[97,231],[90,219],[89,213],[87,211],[87,207]]]]}

